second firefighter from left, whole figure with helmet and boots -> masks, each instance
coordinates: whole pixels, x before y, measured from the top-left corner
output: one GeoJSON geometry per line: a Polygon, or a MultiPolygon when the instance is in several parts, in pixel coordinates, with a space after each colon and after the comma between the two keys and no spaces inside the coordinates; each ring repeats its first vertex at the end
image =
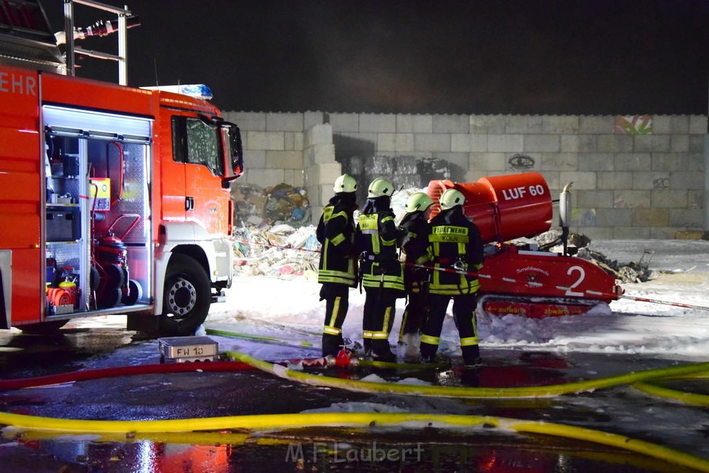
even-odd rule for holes
{"type": "Polygon", "coordinates": [[[403,297],[403,267],[398,260],[398,230],[391,210],[393,185],[378,177],[369,184],[367,203],[357,223],[357,252],[367,293],[362,316],[364,352],[376,361],[393,362],[389,348],[395,304],[403,297]]]}

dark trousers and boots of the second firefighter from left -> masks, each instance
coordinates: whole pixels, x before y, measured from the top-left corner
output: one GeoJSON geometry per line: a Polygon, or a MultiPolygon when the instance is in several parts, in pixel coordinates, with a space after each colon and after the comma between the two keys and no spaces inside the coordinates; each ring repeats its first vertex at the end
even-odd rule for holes
{"type": "Polygon", "coordinates": [[[396,296],[401,291],[386,287],[365,287],[364,291],[367,293],[362,316],[364,352],[371,351],[375,360],[394,361],[389,333],[396,314],[396,296]]]}

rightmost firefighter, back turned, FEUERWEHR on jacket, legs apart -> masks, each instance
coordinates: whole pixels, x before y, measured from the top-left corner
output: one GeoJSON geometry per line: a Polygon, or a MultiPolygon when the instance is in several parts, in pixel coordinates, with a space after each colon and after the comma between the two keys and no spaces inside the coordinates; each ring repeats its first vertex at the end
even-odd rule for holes
{"type": "Polygon", "coordinates": [[[453,299],[453,319],[460,335],[463,362],[467,367],[480,365],[480,350],[475,327],[475,273],[482,267],[484,252],[480,232],[463,213],[465,197],[457,189],[448,189],[440,197],[440,213],[432,218],[428,251],[436,270],[428,288],[428,320],[421,335],[420,355],[432,362],[438,350],[443,320],[453,299]]]}

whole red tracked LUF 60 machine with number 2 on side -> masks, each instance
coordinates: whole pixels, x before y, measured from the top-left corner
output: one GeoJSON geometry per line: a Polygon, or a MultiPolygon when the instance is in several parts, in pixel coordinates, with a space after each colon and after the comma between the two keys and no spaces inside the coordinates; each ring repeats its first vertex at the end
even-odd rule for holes
{"type": "Polygon", "coordinates": [[[553,203],[541,174],[509,174],[457,184],[431,181],[432,216],[440,211],[438,201],[447,189],[462,192],[465,215],[479,228],[484,243],[496,243],[486,247],[484,267],[478,274],[484,311],[533,318],[578,315],[623,294],[613,275],[588,260],[528,243],[506,243],[551,228],[553,203]]]}

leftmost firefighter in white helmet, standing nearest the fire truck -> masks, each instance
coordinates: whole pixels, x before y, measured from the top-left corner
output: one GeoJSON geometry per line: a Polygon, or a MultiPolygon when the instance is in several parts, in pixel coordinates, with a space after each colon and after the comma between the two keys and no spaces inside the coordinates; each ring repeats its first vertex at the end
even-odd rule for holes
{"type": "Polygon", "coordinates": [[[354,256],[354,220],[357,209],[357,181],[350,174],[335,180],[335,196],[323,209],[316,236],[322,245],[318,282],[320,300],[325,299],[323,357],[337,355],[341,347],[342,323],[347,316],[350,287],[357,286],[357,260],[354,256]]]}

